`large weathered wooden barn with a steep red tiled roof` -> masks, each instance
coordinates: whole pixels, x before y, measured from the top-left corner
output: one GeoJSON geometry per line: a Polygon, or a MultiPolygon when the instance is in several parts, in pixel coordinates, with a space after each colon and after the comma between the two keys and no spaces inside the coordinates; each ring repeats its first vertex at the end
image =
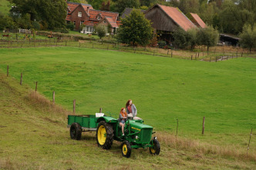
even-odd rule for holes
{"type": "Polygon", "coordinates": [[[166,42],[171,41],[171,34],[175,32],[177,28],[182,28],[185,31],[190,28],[197,28],[179,8],[157,4],[144,12],[144,14],[145,17],[152,22],[155,33],[157,33],[160,39],[166,42]]]}

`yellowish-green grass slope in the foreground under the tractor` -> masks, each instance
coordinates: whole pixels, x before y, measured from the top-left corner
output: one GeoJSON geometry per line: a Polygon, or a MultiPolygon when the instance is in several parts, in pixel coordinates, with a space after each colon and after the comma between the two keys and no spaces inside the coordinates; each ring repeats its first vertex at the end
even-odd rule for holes
{"type": "Polygon", "coordinates": [[[0,169],[256,168],[255,162],[246,158],[224,158],[211,154],[210,148],[206,154],[198,148],[180,149],[162,138],[160,155],[152,156],[148,149],[140,148],[133,149],[129,159],[123,158],[119,142],[103,150],[97,147],[94,132],[83,134],[81,141],[70,139],[66,115],[35,102],[28,95],[32,90],[29,85],[21,86],[15,78],[0,74],[0,87],[0,169]]]}

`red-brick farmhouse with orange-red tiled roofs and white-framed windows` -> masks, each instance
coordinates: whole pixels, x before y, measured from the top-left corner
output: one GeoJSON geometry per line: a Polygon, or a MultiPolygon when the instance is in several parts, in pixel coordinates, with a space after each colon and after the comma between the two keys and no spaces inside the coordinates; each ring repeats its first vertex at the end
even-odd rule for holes
{"type": "Polygon", "coordinates": [[[81,33],[93,33],[95,25],[110,25],[111,32],[116,32],[119,22],[119,13],[105,12],[93,9],[92,5],[76,2],[67,2],[67,24],[73,23],[78,31],[81,25],[85,25],[81,33]]]}

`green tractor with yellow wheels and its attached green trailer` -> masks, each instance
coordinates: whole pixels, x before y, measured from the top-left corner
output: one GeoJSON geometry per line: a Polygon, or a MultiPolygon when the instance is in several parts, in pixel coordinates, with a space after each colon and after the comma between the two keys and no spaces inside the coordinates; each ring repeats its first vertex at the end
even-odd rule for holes
{"type": "Polygon", "coordinates": [[[149,148],[150,154],[160,154],[160,143],[157,137],[152,138],[153,127],[144,125],[143,120],[128,118],[122,129],[116,118],[106,116],[101,113],[96,115],[68,115],[68,128],[70,137],[79,140],[82,132],[95,132],[96,141],[99,147],[109,149],[113,145],[113,140],[122,142],[122,155],[129,158],[132,148],[149,148]]]}

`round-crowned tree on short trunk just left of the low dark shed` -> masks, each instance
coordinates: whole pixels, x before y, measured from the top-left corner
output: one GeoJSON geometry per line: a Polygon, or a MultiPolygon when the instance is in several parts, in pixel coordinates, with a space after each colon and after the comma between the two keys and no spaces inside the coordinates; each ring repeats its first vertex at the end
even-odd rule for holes
{"type": "Polygon", "coordinates": [[[218,38],[219,33],[212,26],[207,26],[207,28],[201,28],[197,32],[197,43],[199,45],[206,45],[207,52],[209,52],[209,47],[217,45],[218,38]]]}

